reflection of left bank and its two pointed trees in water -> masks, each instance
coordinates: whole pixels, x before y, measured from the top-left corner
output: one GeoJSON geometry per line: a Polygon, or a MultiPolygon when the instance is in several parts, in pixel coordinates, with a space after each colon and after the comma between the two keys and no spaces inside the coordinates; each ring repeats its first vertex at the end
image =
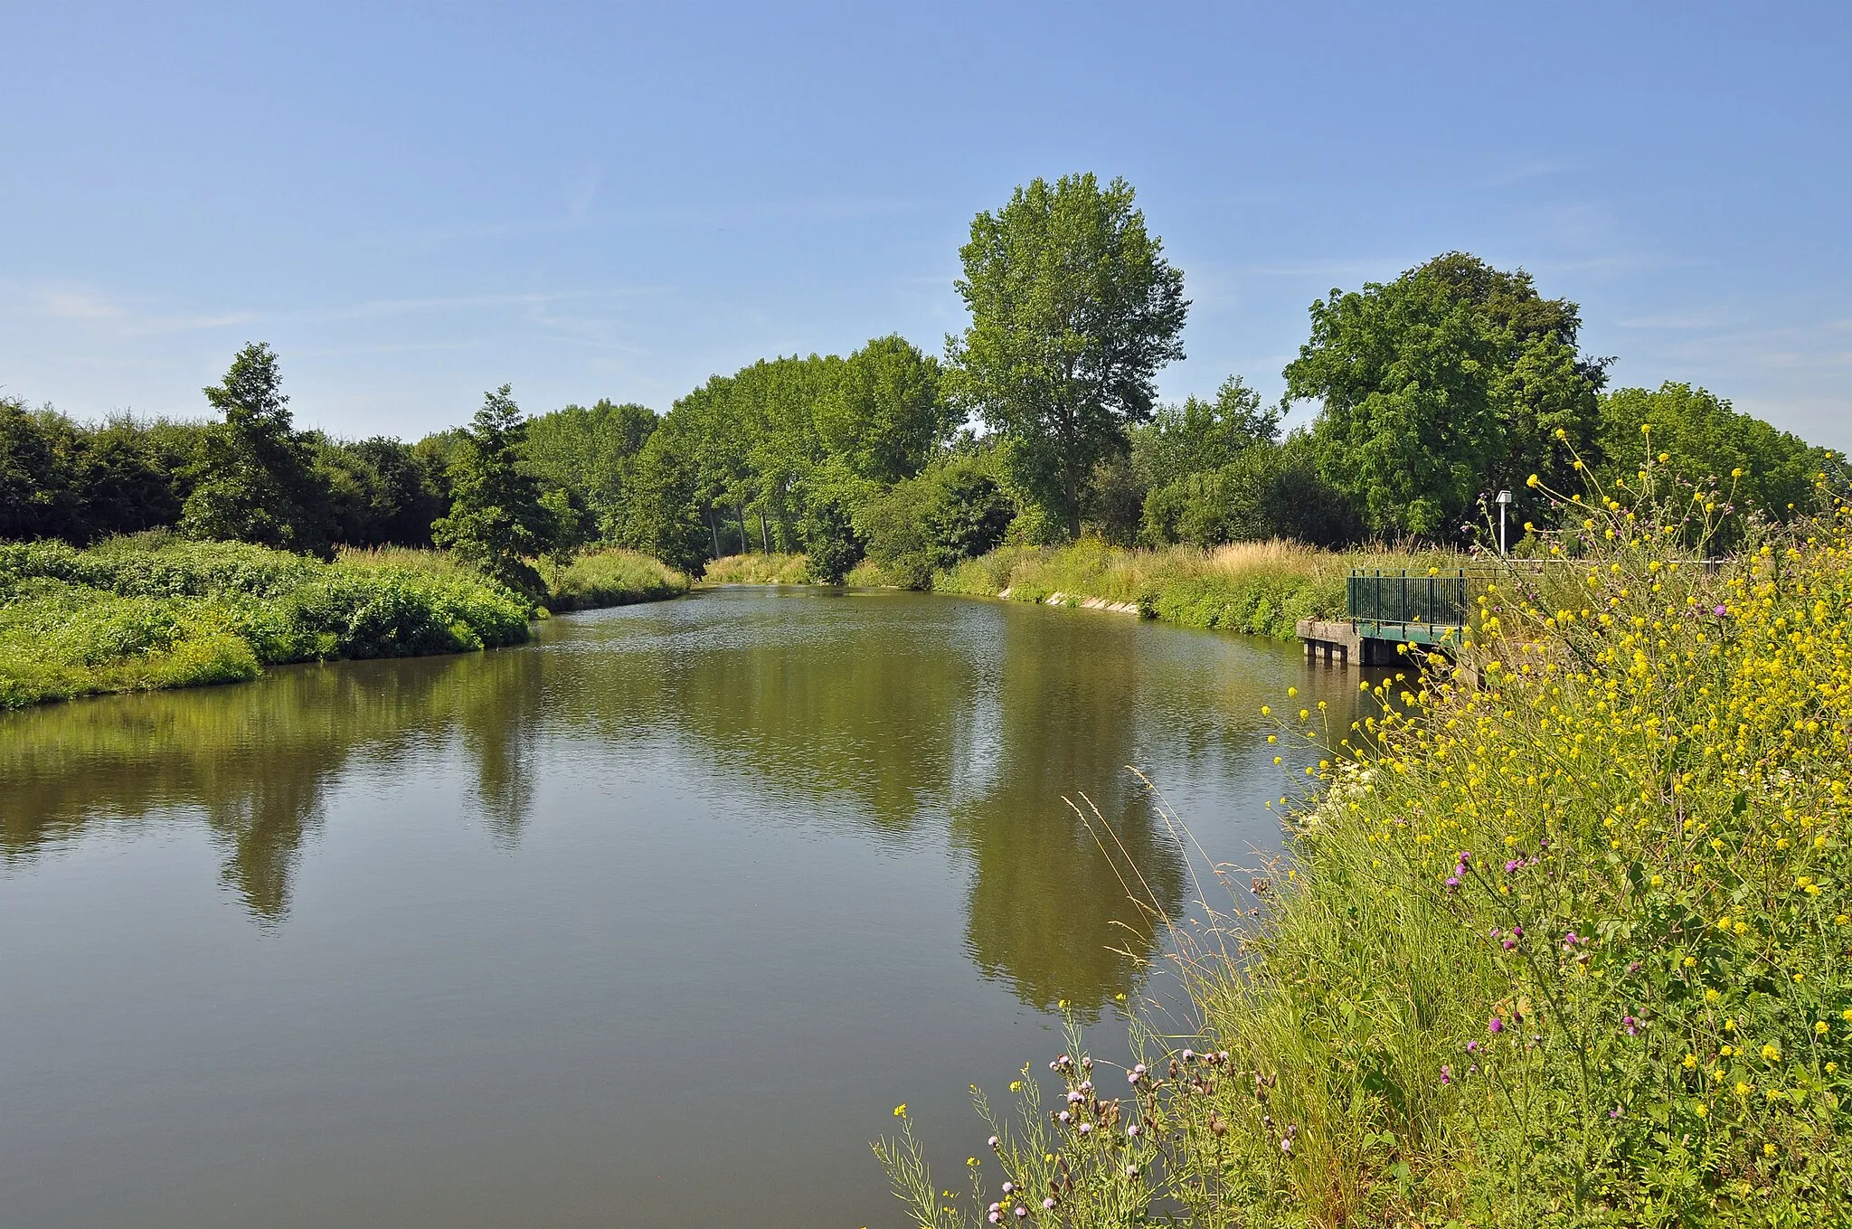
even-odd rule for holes
{"type": "Polygon", "coordinates": [[[400,759],[452,722],[478,759],[491,824],[511,835],[533,792],[520,726],[539,703],[535,659],[298,666],[248,685],[0,716],[0,859],[35,857],[98,822],[146,824],[196,807],[226,850],[220,879],[259,920],[278,922],[302,844],[350,761],[400,759]]]}

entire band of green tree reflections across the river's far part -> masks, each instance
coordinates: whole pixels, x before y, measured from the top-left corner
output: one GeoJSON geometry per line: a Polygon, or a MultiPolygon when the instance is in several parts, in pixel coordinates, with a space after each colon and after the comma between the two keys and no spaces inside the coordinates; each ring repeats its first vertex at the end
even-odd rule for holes
{"type": "Polygon", "coordinates": [[[224,850],[224,883],[274,925],[356,764],[474,774],[485,829],[513,848],[550,742],[589,740],[598,755],[667,755],[665,770],[693,781],[745,779],[754,818],[848,816],[882,842],[948,842],[969,861],[967,950],[982,974],[1030,1007],[1093,1014],[1137,988],[1158,944],[1063,798],[1085,794],[1143,875],[1133,887],[1176,909],[1183,861],[1124,768],[1161,755],[1278,788],[1248,724],[1263,700],[1254,677],[1282,677],[1272,646],[1093,613],[707,592],[559,618],[520,650],[4,716],[0,859],[93,826],[196,816],[224,850]]]}

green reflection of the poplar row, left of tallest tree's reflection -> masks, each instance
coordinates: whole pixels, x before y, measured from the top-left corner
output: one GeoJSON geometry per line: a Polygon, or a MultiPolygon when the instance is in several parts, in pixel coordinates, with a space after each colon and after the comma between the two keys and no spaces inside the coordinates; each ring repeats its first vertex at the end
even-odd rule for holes
{"type": "Polygon", "coordinates": [[[852,798],[859,818],[904,831],[943,801],[954,714],[976,701],[972,614],[943,598],[717,592],[574,627],[624,652],[561,653],[550,687],[569,724],[622,744],[674,731],[715,764],[772,790],[852,798]]]}

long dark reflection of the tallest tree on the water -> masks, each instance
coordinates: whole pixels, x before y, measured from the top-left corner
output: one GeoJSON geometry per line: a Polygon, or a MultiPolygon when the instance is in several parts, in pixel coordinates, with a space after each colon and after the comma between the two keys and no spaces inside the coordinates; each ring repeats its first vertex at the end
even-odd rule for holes
{"type": "Polygon", "coordinates": [[[1141,690],[1126,631],[1135,627],[1080,618],[1009,622],[1002,761],[956,813],[954,837],[976,863],[970,955],[1032,1007],[1067,999],[1091,1012],[1130,992],[1158,942],[1128,885],[1141,896],[1148,890],[1165,911],[1183,900],[1183,859],[1145,788],[1124,772],[1141,690]],[[1085,664],[1076,668],[1076,661],[1085,664]],[[1109,831],[1089,831],[1063,801],[1082,801],[1082,792],[1109,831]]]}

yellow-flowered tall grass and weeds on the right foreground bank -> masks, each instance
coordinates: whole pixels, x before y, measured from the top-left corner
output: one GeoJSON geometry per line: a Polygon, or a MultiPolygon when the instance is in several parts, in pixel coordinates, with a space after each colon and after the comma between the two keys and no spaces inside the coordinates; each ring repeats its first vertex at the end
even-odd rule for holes
{"type": "Polygon", "coordinates": [[[1133,1020],[1124,1075],[1074,1037],[1054,1109],[980,1098],[970,1196],[906,1125],[917,1223],[1848,1223],[1852,513],[1706,565],[1702,494],[1613,494],[1463,670],[1348,731],[1289,692],[1320,792],[1178,935],[1200,1035],[1133,1020]]]}

